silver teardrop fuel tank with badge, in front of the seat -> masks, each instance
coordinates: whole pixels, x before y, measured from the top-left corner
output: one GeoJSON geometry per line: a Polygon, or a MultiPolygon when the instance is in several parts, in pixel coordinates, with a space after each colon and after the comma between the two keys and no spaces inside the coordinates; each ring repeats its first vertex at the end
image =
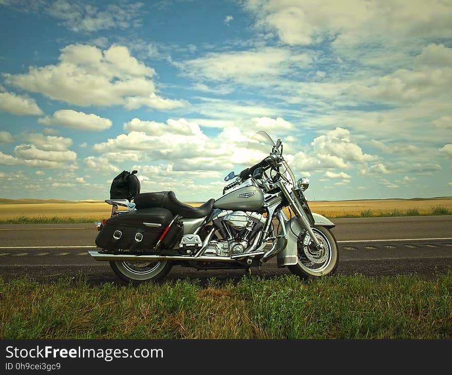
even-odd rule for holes
{"type": "Polygon", "coordinates": [[[254,211],[263,207],[263,194],[256,186],[244,186],[223,195],[214,203],[214,209],[254,211]]]}

